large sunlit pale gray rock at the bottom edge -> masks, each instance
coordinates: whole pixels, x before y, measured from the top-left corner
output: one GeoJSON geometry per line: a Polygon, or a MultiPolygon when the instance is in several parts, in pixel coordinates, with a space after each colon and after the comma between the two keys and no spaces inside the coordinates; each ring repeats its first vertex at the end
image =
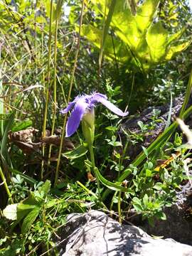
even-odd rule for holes
{"type": "Polygon", "coordinates": [[[142,229],[134,225],[120,225],[97,210],[69,215],[58,247],[60,256],[192,255],[189,245],[170,239],[151,238],[142,229]]]}

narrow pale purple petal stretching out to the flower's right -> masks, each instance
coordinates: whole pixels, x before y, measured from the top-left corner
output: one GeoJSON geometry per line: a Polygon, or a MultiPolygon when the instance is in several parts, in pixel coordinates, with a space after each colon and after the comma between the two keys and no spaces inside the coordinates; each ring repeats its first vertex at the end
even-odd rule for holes
{"type": "Polygon", "coordinates": [[[109,110],[114,112],[114,114],[118,114],[119,116],[125,117],[129,112],[122,112],[122,110],[119,110],[118,107],[114,106],[109,100],[107,100],[107,97],[105,95],[102,95],[101,93],[95,93],[92,97],[92,102],[100,102],[102,105],[105,105],[109,110]]]}

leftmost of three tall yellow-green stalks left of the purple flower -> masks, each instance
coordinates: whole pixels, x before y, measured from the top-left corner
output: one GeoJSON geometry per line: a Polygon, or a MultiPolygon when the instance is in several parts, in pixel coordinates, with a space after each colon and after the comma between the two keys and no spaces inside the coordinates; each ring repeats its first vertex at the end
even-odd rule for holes
{"type": "MultiPolygon", "coordinates": [[[[50,87],[50,57],[51,57],[51,24],[53,19],[53,0],[50,1],[50,21],[49,21],[49,35],[48,35],[48,85],[46,87],[46,106],[44,112],[43,119],[43,134],[42,137],[46,136],[46,124],[47,124],[47,116],[48,116],[48,100],[49,100],[49,87],[50,87]]],[[[45,154],[45,146],[42,148],[42,154],[45,154]]],[[[41,179],[43,179],[43,161],[41,163],[41,179]]]]}

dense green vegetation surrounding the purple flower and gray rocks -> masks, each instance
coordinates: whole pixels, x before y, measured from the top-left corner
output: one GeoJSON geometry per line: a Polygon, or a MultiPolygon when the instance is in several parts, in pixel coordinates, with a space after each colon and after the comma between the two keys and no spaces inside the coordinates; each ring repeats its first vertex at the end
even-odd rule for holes
{"type": "Polygon", "coordinates": [[[90,208],[120,223],[165,219],[188,179],[189,152],[171,124],[174,97],[181,119],[192,112],[188,3],[5,0],[0,19],[0,255],[58,255],[65,216],[90,208]],[[73,108],[61,110],[74,99],[82,116],[70,123],[73,108]],[[122,124],[167,104],[164,132],[130,154],[161,113],[137,133],[122,124]]]}

